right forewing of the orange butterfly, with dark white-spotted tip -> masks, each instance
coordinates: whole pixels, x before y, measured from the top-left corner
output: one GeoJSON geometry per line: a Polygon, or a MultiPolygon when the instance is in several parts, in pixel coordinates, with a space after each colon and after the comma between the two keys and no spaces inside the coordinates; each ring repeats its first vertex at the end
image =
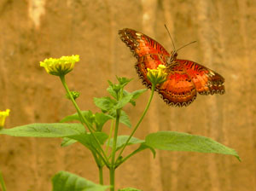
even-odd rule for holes
{"type": "Polygon", "coordinates": [[[184,67],[199,94],[224,94],[224,78],[217,72],[194,61],[177,60],[177,62],[184,67]]]}

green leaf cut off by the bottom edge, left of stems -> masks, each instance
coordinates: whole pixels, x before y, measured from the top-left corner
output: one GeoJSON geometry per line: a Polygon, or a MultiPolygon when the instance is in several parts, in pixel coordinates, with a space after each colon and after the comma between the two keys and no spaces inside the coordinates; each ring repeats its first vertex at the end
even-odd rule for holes
{"type": "Polygon", "coordinates": [[[59,171],[52,178],[52,191],[105,191],[108,186],[90,182],[67,171],[59,171]]]}

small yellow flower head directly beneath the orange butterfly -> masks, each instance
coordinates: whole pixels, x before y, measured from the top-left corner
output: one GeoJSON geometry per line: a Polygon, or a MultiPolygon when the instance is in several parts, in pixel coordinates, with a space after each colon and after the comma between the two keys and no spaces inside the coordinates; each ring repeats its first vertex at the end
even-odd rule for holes
{"type": "Polygon", "coordinates": [[[152,84],[162,84],[166,81],[167,73],[166,73],[166,66],[159,65],[157,69],[149,69],[147,68],[148,73],[147,77],[152,84]]]}

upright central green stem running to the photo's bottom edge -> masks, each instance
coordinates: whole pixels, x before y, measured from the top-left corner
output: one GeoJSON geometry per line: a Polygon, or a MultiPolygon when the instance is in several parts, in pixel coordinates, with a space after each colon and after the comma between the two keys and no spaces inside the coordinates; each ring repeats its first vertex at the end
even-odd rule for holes
{"type": "Polygon", "coordinates": [[[114,127],[114,133],[113,133],[113,146],[112,146],[112,153],[111,153],[111,165],[109,168],[110,191],[114,191],[115,152],[116,152],[117,136],[119,131],[120,112],[121,112],[120,109],[116,110],[116,120],[115,120],[115,127],[114,127]]]}

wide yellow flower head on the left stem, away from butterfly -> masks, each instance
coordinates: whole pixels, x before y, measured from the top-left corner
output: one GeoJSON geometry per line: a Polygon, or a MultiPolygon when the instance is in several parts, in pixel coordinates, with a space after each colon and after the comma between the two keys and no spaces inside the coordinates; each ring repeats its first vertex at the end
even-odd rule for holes
{"type": "Polygon", "coordinates": [[[79,55],[61,56],[61,58],[48,58],[40,61],[40,67],[55,76],[65,75],[73,70],[75,62],[79,61],[79,55]]]}

